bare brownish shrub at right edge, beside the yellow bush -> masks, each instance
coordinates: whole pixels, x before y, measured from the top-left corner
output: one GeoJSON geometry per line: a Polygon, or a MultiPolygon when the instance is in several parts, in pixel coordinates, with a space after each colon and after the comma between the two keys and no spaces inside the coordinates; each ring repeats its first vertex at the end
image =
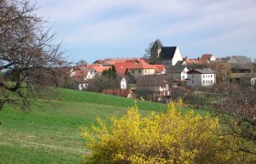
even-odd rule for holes
{"type": "Polygon", "coordinates": [[[256,158],[256,86],[240,87],[219,84],[215,87],[219,100],[213,104],[227,133],[238,136],[241,151],[254,154],[256,158]]]}

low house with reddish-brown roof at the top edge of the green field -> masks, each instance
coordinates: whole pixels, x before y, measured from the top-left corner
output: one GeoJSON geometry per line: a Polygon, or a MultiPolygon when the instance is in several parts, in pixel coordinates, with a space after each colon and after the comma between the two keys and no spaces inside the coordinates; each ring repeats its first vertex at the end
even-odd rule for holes
{"type": "Polygon", "coordinates": [[[136,98],[135,94],[131,89],[113,88],[103,89],[102,94],[114,95],[118,97],[136,98]]]}

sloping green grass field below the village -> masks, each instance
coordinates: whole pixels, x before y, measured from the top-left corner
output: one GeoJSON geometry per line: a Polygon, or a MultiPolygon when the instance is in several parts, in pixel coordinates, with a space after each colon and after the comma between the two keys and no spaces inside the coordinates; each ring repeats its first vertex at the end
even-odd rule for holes
{"type": "MultiPolygon", "coordinates": [[[[136,101],[143,115],[165,111],[166,105],[136,101]]],[[[80,126],[95,118],[121,117],[134,100],[72,89],[61,89],[52,105],[43,100],[28,112],[4,108],[0,112],[0,163],[80,163],[87,152],[80,126]],[[52,107],[53,105],[53,107],[52,107]]],[[[187,110],[187,109],[185,109],[187,110]]],[[[206,111],[197,110],[205,114],[206,111]]]]}

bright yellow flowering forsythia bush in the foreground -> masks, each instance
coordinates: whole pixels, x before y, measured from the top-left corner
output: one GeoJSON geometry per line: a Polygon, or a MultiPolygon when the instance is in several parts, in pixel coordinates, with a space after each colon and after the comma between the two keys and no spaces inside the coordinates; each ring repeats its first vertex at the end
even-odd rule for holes
{"type": "Polygon", "coordinates": [[[233,143],[236,138],[219,135],[219,121],[195,115],[182,115],[181,101],[171,103],[165,113],[142,117],[137,107],[123,118],[110,118],[108,124],[81,128],[90,153],[85,163],[226,163],[238,161],[233,143]]]}

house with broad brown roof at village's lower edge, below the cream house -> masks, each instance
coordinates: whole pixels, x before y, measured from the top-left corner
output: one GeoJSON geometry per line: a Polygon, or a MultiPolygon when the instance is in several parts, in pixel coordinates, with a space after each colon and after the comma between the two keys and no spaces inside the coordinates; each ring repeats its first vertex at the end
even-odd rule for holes
{"type": "Polygon", "coordinates": [[[136,87],[138,94],[145,98],[160,100],[169,95],[169,81],[165,75],[145,75],[138,80],[136,87]]]}

